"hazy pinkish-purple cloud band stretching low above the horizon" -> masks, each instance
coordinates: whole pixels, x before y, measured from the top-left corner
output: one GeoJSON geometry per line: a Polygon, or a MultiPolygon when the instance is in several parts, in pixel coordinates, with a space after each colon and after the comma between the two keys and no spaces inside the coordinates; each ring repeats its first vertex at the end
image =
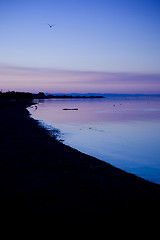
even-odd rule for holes
{"type": "Polygon", "coordinates": [[[160,74],[71,71],[1,63],[0,88],[32,92],[160,93],[160,74]]]}

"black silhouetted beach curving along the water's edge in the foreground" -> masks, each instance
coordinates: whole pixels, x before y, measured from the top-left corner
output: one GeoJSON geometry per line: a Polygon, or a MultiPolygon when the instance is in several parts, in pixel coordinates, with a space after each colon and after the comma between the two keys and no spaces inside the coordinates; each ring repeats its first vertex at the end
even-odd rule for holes
{"type": "Polygon", "coordinates": [[[29,105],[0,102],[2,228],[156,230],[159,185],[54,140],[29,105]]]}

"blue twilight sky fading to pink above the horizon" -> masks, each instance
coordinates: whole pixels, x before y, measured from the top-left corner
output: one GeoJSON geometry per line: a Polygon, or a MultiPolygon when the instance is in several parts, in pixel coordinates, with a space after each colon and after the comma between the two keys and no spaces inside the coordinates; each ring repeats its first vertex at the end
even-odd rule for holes
{"type": "Polygon", "coordinates": [[[160,93],[160,0],[0,0],[0,89],[160,93]]]}

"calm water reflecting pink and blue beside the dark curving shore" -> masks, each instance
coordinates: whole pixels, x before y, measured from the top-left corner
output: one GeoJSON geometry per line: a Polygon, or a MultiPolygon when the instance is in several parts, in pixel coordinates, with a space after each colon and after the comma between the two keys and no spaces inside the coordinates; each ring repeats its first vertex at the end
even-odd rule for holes
{"type": "Polygon", "coordinates": [[[64,144],[160,184],[160,98],[47,99],[37,107],[32,117],[59,129],[64,144]]]}

